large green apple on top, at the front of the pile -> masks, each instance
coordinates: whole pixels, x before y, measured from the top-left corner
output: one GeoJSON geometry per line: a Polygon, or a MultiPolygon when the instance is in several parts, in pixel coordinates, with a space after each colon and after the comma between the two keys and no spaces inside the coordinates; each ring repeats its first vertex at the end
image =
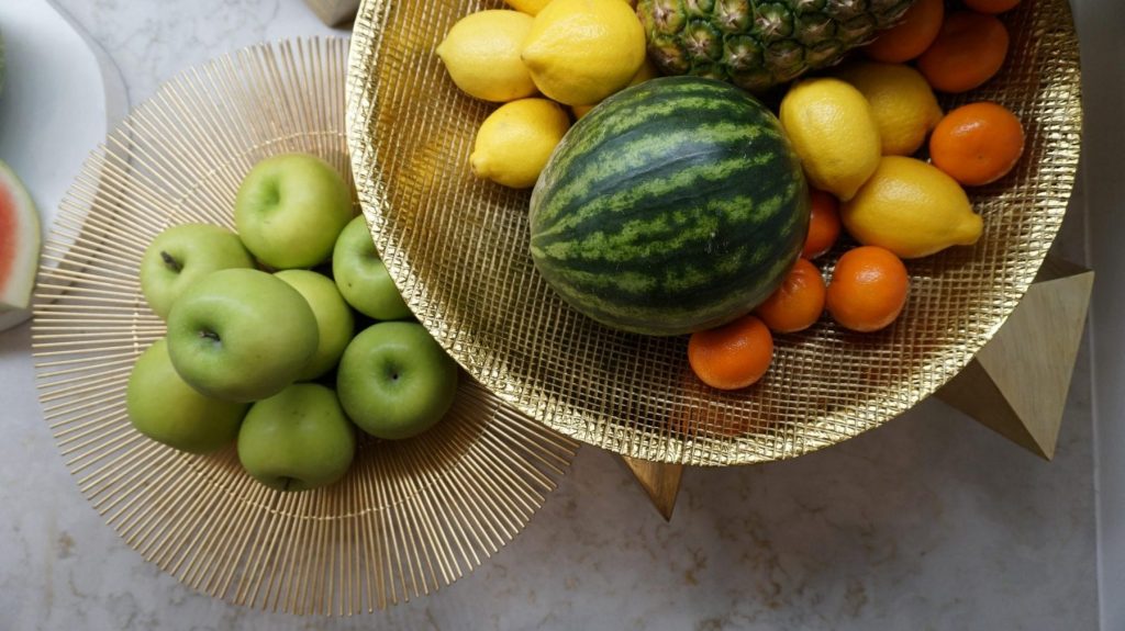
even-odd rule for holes
{"type": "Polygon", "coordinates": [[[168,316],[176,372],[199,392],[256,401],[291,384],[316,353],[316,316],[300,293],[258,269],[220,269],[191,284],[168,316]]]}

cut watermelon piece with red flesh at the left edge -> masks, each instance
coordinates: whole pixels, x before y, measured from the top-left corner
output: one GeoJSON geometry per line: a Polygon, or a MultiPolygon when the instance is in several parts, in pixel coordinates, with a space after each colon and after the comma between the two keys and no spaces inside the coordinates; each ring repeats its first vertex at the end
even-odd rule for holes
{"type": "Polygon", "coordinates": [[[24,184],[0,162],[0,311],[30,305],[39,246],[39,213],[24,184]]]}

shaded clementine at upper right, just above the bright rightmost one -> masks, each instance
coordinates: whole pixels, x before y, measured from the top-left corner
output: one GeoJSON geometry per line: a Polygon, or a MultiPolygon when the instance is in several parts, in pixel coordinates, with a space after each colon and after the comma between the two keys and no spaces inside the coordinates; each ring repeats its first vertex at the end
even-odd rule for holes
{"type": "Polygon", "coordinates": [[[1008,56],[1008,29],[996,16],[955,11],[918,57],[918,70],[942,92],[965,92],[992,79],[1008,56]]]}

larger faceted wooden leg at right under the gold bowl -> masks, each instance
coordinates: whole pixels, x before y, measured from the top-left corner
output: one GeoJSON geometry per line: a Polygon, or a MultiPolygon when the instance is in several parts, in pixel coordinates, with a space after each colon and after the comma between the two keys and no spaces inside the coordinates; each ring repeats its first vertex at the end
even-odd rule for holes
{"type": "Polygon", "coordinates": [[[1053,458],[1092,287],[1094,272],[1048,257],[1008,321],[937,396],[1053,458]]]}

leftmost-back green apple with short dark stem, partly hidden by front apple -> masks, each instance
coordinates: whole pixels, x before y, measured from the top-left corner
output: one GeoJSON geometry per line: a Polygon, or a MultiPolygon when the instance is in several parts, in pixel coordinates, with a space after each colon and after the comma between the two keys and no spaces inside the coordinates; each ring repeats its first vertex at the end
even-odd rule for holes
{"type": "Polygon", "coordinates": [[[212,272],[253,267],[238,236],[218,226],[183,223],[156,235],[141,257],[141,293],[161,319],[168,319],[183,289],[212,272]]]}

